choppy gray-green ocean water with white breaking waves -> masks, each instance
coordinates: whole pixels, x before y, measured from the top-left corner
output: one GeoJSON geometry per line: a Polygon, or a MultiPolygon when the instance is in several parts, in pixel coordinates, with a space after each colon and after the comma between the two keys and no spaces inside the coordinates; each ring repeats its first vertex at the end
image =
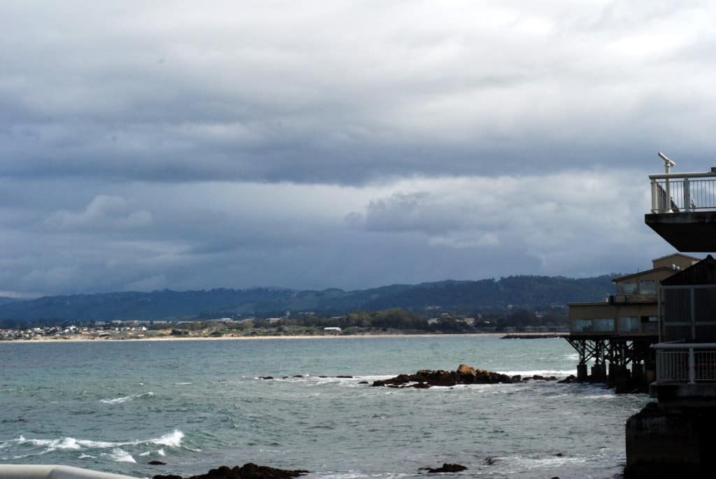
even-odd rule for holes
{"type": "Polygon", "coordinates": [[[359,384],[460,363],[564,377],[576,362],[563,339],[2,342],[0,463],[139,478],[248,462],[309,479],[395,479],[442,463],[468,467],[446,479],[618,476],[624,422],[646,395],[556,382],[359,384]]]}

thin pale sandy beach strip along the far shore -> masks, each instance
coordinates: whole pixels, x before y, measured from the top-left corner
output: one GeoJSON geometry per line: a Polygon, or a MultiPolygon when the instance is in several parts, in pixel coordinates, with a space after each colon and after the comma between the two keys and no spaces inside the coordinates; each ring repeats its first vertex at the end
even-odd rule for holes
{"type": "MultiPolygon", "coordinates": [[[[536,333],[538,334],[538,333],[536,333]]],[[[429,338],[429,337],[504,337],[505,333],[448,333],[448,334],[430,334],[430,333],[387,333],[387,334],[321,334],[309,335],[309,334],[297,334],[297,335],[277,335],[277,336],[220,336],[220,337],[177,337],[177,336],[162,336],[162,337],[145,337],[145,338],[98,338],[98,337],[81,337],[72,336],[67,338],[55,338],[55,337],[39,337],[33,339],[6,339],[0,341],[0,344],[4,343],[62,343],[62,342],[147,342],[147,341],[232,341],[232,340],[266,340],[266,339],[340,339],[340,338],[359,338],[359,339],[374,339],[374,338],[429,338]]]]}

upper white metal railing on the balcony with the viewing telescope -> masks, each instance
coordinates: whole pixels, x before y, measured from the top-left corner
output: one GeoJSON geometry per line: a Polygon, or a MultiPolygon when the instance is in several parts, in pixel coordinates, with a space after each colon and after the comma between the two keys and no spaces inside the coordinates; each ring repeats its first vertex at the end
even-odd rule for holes
{"type": "Polygon", "coordinates": [[[716,173],[662,173],[652,181],[652,213],[716,210],[716,173]]]}

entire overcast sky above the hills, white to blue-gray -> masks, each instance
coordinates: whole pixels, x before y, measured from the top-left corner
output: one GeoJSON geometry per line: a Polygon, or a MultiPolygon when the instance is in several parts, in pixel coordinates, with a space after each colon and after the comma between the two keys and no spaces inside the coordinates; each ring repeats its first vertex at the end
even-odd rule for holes
{"type": "Polygon", "coordinates": [[[0,2],[0,294],[636,271],[710,1],[0,2]]]}

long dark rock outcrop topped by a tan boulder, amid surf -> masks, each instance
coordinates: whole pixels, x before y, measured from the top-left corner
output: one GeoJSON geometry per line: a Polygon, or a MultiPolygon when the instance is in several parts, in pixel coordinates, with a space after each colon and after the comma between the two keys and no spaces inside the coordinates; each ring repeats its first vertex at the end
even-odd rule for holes
{"type": "Polygon", "coordinates": [[[499,384],[516,382],[507,374],[475,369],[467,364],[460,364],[457,371],[431,371],[420,369],[415,374],[399,374],[390,379],[379,379],[371,384],[372,387],[417,387],[455,386],[455,384],[499,384]]]}

